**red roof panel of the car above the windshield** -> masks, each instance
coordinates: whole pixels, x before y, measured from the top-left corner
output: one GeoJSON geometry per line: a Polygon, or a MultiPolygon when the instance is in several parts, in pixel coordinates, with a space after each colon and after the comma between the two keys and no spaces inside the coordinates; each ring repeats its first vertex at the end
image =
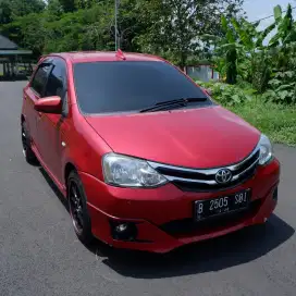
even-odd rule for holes
{"type": "Polygon", "coordinates": [[[164,61],[150,54],[119,51],[76,51],[50,53],[44,58],[60,57],[72,63],[102,62],[102,61],[164,61]]]}

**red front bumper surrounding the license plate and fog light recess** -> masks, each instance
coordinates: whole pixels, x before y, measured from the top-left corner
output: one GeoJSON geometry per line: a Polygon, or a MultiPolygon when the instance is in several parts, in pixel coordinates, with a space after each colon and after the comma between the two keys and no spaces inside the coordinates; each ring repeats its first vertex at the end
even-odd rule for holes
{"type": "Polygon", "coordinates": [[[244,184],[215,193],[185,193],[172,184],[153,189],[119,188],[86,173],[81,172],[79,175],[95,236],[119,248],[166,252],[186,244],[264,223],[278,203],[280,163],[274,159],[267,166],[258,168],[255,176],[244,184]],[[218,223],[194,223],[195,200],[226,196],[246,188],[252,190],[249,210],[221,217],[218,223]],[[136,240],[113,239],[110,221],[136,223],[136,240]]]}

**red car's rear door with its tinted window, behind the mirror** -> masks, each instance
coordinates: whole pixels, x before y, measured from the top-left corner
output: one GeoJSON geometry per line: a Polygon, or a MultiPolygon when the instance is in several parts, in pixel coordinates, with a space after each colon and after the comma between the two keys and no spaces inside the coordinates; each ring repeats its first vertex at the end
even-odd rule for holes
{"type": "Polygon", "coordinates": [[[34,104],[39,98],[44,96],[45,87],[51,69],[52,64],[49,60],[45,60],[42,63],[40,63],[35,71],[30,83],[24,89],[24,115],[33,144],[38,150],[37,121],[41,114],[34,109],[34,104]]]}

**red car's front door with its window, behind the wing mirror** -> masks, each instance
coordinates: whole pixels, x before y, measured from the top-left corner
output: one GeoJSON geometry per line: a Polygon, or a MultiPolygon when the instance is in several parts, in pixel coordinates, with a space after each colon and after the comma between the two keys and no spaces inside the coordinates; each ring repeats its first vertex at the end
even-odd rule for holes
{"type": "Polygon", "coordinates": [[[62,152],[65,148],[64,136],[69,126],[67,119],[67,76],[65,62],[53,58],[45,88],[44,99],[59,96],[63,101],[63,114],[42,113],[37,121],[39,153],[47,170],[60,184],[63,180],[62,152]]]}

